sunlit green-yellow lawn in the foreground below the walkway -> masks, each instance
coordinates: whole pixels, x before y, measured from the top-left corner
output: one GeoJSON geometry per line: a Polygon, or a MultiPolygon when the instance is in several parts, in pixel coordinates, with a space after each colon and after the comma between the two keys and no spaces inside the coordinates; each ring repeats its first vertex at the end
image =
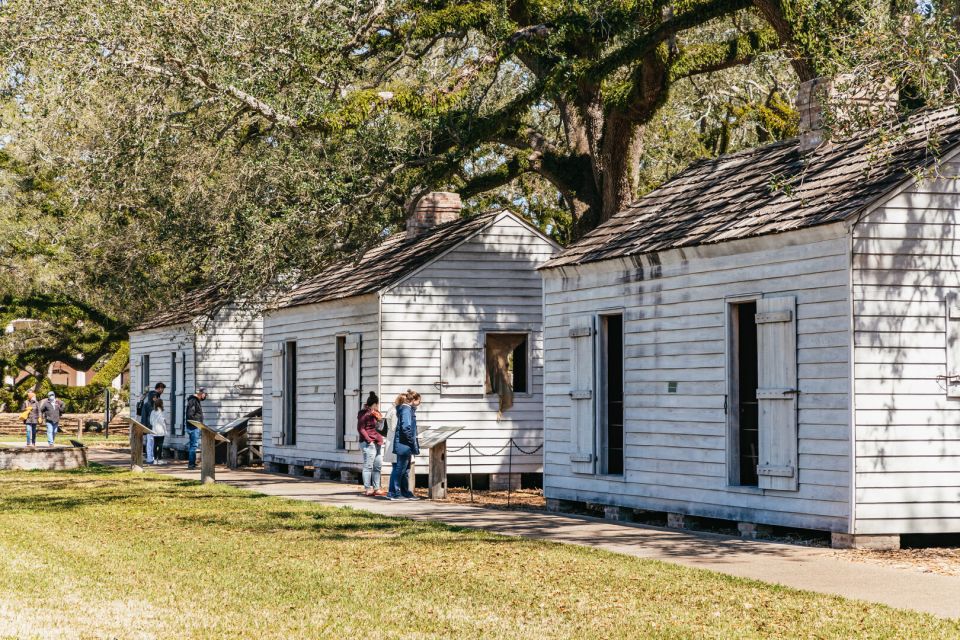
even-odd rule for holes
{"type": "Polygon", "coordinates": [[[945,638],[960,625],[149,473],[0,473],[0,637],[58,634],[945,638]]]}

